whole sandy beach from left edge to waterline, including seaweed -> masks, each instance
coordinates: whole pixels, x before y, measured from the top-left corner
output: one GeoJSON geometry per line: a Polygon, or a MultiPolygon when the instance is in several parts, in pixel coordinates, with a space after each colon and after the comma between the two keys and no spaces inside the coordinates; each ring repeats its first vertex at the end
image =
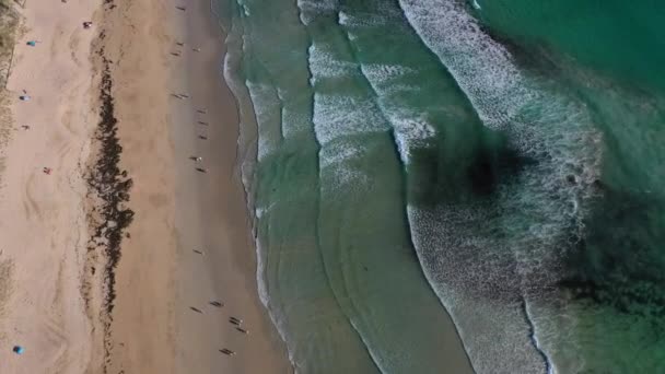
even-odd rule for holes
{"type": "Polygon", "coordinates": [[[223,35],[208,2],[176,5],[21,11],[0,176],[2,373],[292,371],[257,295],[223,35]]]}

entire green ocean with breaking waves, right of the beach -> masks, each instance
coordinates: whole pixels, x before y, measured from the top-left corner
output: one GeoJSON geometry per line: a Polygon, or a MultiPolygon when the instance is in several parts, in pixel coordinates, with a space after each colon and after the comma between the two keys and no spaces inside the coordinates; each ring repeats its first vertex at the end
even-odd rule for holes
{"type": "Polygon", "coordinates": [[[665,372],[665,5],[213,10],[298,373],[665,372]]]}

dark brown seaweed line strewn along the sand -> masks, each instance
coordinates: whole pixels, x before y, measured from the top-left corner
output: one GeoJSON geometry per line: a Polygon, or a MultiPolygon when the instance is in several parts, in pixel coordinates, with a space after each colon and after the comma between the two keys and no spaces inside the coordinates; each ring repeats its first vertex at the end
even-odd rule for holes
{"type": "MultiPolygon", "coordinates": [[[[101,38],[104,38],[102,33],[101,38]]],[[[86,180],[94,195],[96,204],[93,208],[92,229],[88,250],[95,252],[103,260],[103,309],[102,323],[104,327],[104,373],[110,363],[110,324],[112,312],[116,297],[115,269],[120,259],[120,244],[122,232],[129,226],[133,219],[133,211],[126,207],[129,201],[129,190],[132,179],[127,177],[126,171],[118,167],[122,147],[117,137],[117,122],[114,115],[114,98],[112,96],[113,81],[110,78],[112,61],[105,57],[104,48],[98,52],[102,60],[102,77],[100,84],[100,124],[95,131],[95,140],[98,145],[97,155],[89,171],[86,180]],[[95,219],[96,217],[96,219],[95,219]]],[[[129,234],[127,234],[129,237],[129,234]]],[[[91,268],[94,276],[95,268],[91,268]]]]}

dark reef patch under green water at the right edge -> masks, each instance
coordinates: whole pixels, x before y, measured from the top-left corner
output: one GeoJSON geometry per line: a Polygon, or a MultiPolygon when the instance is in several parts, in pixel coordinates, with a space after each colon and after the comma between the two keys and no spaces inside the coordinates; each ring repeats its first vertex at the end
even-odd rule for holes
{"type": "Polygon", "coordinates": [[[604,188],[558,287],[620,313],[665,316],[665,201],[604,188]]]}

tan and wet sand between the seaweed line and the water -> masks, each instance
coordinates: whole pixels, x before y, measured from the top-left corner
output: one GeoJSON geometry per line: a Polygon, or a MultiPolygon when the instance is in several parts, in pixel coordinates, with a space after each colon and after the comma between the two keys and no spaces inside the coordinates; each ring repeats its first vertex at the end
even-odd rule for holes
{"type": "Polygon", "coordinates": [[[237,108],[219,73],[221,28],[206,1],[189,3],[184,12],[154,0],[117,3],[109,14],[114,34],[105,39],[106,56],[118,58],[113,96],[124,147],[120,164],[135,182],[128,204],[136,218],[116,271],[108,366],[288,372],[285,349],[258,302],[235,165],[237,108]],[[191,50],[195,45],[200,52],[191,50]],[[174,93],[189,97],[174,98],[174,93]],[[208,108],[205,116],[196,113],[199,107],[208,108]],[[198,121],[207,122],[206,129],[198,121]],[[203,132],[205,141],[198,138],[203,132]],[[189,160],[194,154],[203,156],[205,175],[189,160]],[[209,305],[213,300],[225,305],[215,308],[209,305]],[[250,337],[236,331],[230,316],[244,319],[250,337]],[[237,355],[225,357],[219,351],[224,348],[237,355]],[[253,360],[255,354],[262,360],[253,360]]]}

